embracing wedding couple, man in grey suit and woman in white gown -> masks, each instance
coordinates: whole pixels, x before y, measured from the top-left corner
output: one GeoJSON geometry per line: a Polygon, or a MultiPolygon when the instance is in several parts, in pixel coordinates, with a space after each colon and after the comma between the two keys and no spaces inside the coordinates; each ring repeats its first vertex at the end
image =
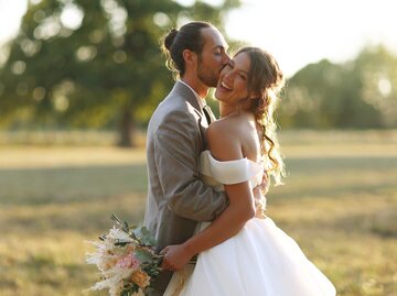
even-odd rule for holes
{"type": "Polygon", "coordinates": [[[283,75],[275,58],[257,47],[229,58],[206,22],[173,29],[163,43],[178,80],[148,128],[144,224],[164,254],[151,296],[335,295],[264,213],[270,177],[283,176],[273,122],[283,75]],[[205,101],[211,87],[218,120],[205,101]]]}

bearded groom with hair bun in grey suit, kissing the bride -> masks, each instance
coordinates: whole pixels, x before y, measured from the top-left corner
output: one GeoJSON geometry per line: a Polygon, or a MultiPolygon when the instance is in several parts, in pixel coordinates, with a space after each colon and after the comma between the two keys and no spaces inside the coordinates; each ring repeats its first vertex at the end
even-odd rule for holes
{"type": "MultiPolygon", "coordinates": [[[[171,30],[164,39],[168,65],[179,79],[158,106],[148,127],[148,199],[144,224],[159,251],[186,241],[200,221],[212,221],[227,207],[200,178],[200,154],[206,149],[205,129],[213,120],[205,97],[230,61],[219,31],[206,22],[171,30]]],[[[163,267],[172,270],[163,262],[163,267]]],[[[151,296],[163,295],[172,272],[162,272],[151,296]]]]}

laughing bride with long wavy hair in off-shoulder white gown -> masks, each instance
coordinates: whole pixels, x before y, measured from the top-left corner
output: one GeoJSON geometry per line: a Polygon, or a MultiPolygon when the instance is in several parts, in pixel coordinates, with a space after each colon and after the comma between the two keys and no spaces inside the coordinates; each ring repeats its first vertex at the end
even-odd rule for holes
{"type": "Polygon", "coordinates": [[[281,184],[273,111],[282,86],[277,62],[257,47],[239,50],[222,70],[215,92],[221,119],[207,129],[201,173],[226,190],[229,206],[193,238],[163,250],[163,266],[176,271],[164,295],[335,295],[298,244],[265,216],[265,200],[255,202],[251,194],[264,177],[281,184]],[[196,254],[193,268],[187,262],[196,254]]]}

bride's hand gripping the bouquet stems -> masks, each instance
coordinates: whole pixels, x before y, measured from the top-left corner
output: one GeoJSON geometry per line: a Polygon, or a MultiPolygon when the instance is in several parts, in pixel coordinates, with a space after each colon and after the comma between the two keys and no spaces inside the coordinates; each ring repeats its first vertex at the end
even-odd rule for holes
{"type": "Polygon", "coordinates": [[[160,254],[164,255],[161,267],[173,272],[181,271],[194,255],[183,244],[168,245],[160,254]]]}

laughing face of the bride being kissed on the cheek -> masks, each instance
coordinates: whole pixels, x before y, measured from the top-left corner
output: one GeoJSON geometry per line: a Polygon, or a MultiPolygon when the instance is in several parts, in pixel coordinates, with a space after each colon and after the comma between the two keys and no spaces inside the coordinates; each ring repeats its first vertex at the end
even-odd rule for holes
{"type": "Polygon", "coordinates": [[[248,97],[248,54],[239,53],[223,68],[216,86],[215,97],[229,106],[237,106],[248,97]]]}

